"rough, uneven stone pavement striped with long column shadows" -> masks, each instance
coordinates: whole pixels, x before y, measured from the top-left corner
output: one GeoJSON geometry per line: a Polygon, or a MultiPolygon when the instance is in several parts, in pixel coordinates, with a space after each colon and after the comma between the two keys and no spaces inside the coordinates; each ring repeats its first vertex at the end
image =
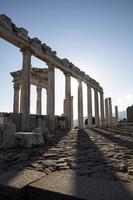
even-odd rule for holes
{"type": "Polygon", "coordinates": [[[56,132],[44,147],[0,151],[0,184],[21,183],[20,187],[24,187],[35,179],[62,170],[72,171],[78,177],[120,181],[121,185],[132,183],[133,129],[56,132]],[[1,179],[7,173],[12,175],[1,179]],[[22,176],[16,181],[18,174],[22,176]]]}

